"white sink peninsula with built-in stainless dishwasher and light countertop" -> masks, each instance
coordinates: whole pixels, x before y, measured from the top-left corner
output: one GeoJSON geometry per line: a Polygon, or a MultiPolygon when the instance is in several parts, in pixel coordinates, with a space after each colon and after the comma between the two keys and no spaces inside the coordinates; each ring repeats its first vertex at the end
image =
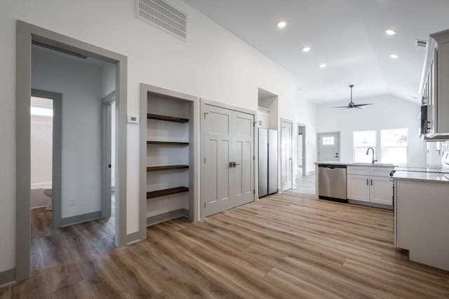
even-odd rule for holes
{"type": "Polygon", "coordinates": [[[337,200],[370,207],[393,209],[393,184],[390,172],[396,167],[382,163],[315,162],[316,198],[337,200]],[[342,180],[342,168],[345,170],[342,180]],[[338,169],[340,175],[333,174],[338,169]],[[335,184],[338,180],[339,183],[335,184]],[[344,188],[342,193],[330,193],[344,188]],[[331,189],[331,190],[330,190],[331,189]]]}

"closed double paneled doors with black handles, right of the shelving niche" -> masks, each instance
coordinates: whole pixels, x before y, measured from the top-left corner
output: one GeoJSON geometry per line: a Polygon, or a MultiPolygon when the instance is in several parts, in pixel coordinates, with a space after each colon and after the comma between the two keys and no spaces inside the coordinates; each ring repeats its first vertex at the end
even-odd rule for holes
{"type": "Polygon", "coordinates": [[[201,218],[254,199],[254,115],[201,105],[201,218]]]}

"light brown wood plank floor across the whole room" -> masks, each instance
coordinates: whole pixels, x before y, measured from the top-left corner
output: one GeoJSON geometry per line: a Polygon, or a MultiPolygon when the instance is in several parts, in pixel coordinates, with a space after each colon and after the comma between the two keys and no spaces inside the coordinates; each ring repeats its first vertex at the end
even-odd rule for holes
{"type": "Polygon", "coordinates": [[[35,235],[32,278],[0,298],[449,298],[449,272],[393,246],[388,210],[286,192],[123,248],[107,225],[35,235]]]}

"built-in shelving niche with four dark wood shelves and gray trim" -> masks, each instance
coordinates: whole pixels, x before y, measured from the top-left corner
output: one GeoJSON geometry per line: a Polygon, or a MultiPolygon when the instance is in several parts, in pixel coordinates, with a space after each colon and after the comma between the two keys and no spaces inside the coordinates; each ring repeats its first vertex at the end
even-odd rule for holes
{"type": "Polygon", "coordinates": [[[140,92],[140,229],[181,216],[194,221],[198,99],[146,84],[140,92]]]}

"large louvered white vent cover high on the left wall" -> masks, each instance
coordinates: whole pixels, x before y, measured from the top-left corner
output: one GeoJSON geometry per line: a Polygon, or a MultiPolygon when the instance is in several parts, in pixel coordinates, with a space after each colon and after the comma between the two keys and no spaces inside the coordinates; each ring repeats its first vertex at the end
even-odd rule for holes
{"type": "Polygon", "coordinates": [[[137,0],[137,18],[187,41],[187,13],[162,0],[137,0]]]}

